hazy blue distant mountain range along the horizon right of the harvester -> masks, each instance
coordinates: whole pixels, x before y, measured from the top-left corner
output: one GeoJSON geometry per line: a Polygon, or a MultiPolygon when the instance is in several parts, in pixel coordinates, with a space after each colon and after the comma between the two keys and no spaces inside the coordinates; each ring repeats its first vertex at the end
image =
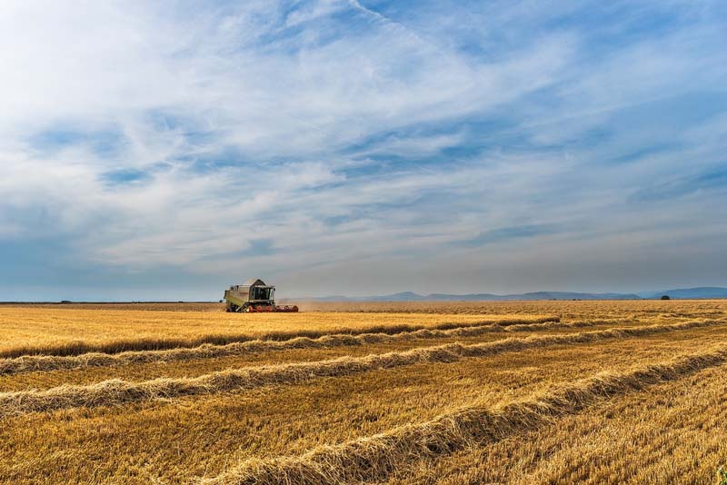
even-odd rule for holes
{"type": "Polygon", "coordinates": [[[668,295],[672,299],[727,298],[727,288],[699,287],[641,293],[577,293],[577,292],[529,292],[519,294],[469,293],[448,294],[400,292],[378,296],[351,297],[344,295],[314,298],[289,298],[290,301],[312,302],[513,302],[534,300],[652,300],[668,295]]]}

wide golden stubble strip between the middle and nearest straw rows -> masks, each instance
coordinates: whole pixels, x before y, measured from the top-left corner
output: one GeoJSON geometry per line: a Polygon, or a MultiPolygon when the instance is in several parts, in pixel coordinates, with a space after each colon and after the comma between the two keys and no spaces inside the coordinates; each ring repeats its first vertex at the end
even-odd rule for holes
{"type": "Polygon", "coordinates": [[[497,406],[604,369],[625,371],[725,341],[727,334],[716,326],[204,399],[31,413],[7,418],[0,427],[0,482],[57,483],[68,476],[93,483],[185,482],[242,460],[303,454],[431,420],[473,401],[497,406]]]}

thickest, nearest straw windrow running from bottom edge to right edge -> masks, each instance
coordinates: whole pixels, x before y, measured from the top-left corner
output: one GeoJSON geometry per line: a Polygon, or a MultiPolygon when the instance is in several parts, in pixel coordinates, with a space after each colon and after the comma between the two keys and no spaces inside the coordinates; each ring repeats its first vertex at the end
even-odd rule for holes
{"type": "Polygon", "coordinates": [[[560,416],[581,411],[598,401],[674,381],[725,362],[727,347],[720,346],[632,371],[601,372],[527,400],[495,408],[469,406],[432,421],[340,445],[322,446],[300,457],[245,460],[203,483],[305,484],[385,480],[393,470],[406,463],[503,440],[514,433],[532,430],[560,416]]]}

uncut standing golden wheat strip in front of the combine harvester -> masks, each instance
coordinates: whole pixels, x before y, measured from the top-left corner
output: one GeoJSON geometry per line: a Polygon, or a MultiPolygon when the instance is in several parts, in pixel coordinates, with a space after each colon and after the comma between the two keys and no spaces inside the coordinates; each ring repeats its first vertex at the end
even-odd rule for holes
{"type": "Polygon", "coordinates": [[[393,334],[423,329],[559,321],[560,317],[547,315],[100,313],[0,306],[0,331],[5,337],[0,341],[0,358],[156,351],[198,347],[204,343],[225,345],[255,340],[286,341],[296,337],[316,339],[340,333],[393,334]],[[79,339],[79,335],[84,338],[79,339]]]}

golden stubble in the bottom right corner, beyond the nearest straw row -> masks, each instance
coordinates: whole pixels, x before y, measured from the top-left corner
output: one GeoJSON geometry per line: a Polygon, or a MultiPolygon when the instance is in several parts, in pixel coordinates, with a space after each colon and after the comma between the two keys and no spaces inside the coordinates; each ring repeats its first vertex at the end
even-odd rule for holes
{"type": "Polygon", "coordinates": [[[724,366],[623,396],[537,430],[423,459],[391,483],[705,483],[727,464],[724,366]]]}

